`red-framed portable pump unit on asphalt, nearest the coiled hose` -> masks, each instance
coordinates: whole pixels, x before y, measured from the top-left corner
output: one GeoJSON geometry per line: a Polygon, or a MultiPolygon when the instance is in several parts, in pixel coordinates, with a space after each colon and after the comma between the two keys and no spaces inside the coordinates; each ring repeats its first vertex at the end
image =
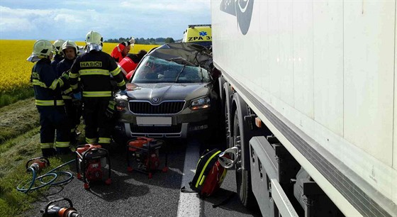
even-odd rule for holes
{"type": "Polygon", "coordinates": [[[111,162],[109,153],[101,145],[79,145],[76,148],[77,178],[84,182],[84,189],[89,189],[91,182],[101,181],[108,173],[105,184],[111,184],[111,162]],[[106,165],[108,168],[106,169],[106,165]]]}

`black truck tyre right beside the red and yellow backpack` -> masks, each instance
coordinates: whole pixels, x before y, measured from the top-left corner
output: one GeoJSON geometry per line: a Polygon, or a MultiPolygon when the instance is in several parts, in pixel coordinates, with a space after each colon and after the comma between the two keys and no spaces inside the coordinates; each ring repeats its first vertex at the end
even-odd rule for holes
{"type": "MultiPolygon", "coordinates": [[[[244,130],[240,128],[238,111],[235,111],[234,124],[233,124],[233,140],[235,146],[244,145],[243,141],[240,139],[240,135],[244,130]]],[[[239,148],[240,149],[240,148],[239,148]]],[[[241,150],[241,149],[240,149],[241,150]]],[[[243,153],[240,151],[237,155],[237,164],[235,165],[235,176],[236,176],[236,187],[237,194],[240,197],[241,204],[247,208],[253,207],[257,204],[254,194],[252,193],[251,186],[251,174],[249,170],[242,169],[241,162],[244,160],[243,153]]]]}

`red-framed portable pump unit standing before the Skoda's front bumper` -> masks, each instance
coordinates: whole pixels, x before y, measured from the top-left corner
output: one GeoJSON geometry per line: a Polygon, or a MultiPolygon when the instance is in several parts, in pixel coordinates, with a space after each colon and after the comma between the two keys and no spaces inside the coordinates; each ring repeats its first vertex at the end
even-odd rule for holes
{"type": "MultiPolygon", "coordinates": [[[[139,137],[133,140],[129,140],[127,143],[127,163],[128,172],[133,171],[133,167],[130,164],[130,157],[133,158],[133,162],[136,162],[138,172],[147,173],[149,179],[152,178],[152,172],[156,171],[160,167],[160,155],[159,150],[164,145],[164,141],[155,140],[153,138],[139,137]]],[[[167,152],[165,153],[165,164],[162,172],[167,172],[167,152]]]]}

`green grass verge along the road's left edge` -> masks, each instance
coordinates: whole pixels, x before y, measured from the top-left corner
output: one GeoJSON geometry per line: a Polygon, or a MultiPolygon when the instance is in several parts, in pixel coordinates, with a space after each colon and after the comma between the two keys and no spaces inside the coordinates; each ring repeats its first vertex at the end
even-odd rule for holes
{"type": "MultiPolygon", "coordinates": [[[[30,204],[43,198],[48,189],[44,187],[28,194],[16,189],[18,184],[28,182],[32,177],[26,172],[26,162],[41,156],[38,119],[33,98],[0,108],[0,216],[23,216],[32,208],[30,204]]],[[[79,130],[82,128],[84,125],[80,124],[79,130]]],[[[84,140],[84,135],[80,138],[84,140]]],[[[72,159],[74,155],[50,157],[51,167],[43,172],[72,159]]],[[[71,167],[74,169],[74,164],[66,165],[62,170],[70,171],[71,167]]]]}

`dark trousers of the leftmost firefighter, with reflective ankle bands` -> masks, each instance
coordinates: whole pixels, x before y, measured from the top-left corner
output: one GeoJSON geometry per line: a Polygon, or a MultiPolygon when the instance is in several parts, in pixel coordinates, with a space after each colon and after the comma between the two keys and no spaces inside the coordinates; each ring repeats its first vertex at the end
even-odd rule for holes
{"type": "Polygon", "coordinates": [[[40,148],[69,148],[65,106],[36,106],[40,113],[40,148]],[[55,139],[56,138],[56,139],[55,139]]]}

